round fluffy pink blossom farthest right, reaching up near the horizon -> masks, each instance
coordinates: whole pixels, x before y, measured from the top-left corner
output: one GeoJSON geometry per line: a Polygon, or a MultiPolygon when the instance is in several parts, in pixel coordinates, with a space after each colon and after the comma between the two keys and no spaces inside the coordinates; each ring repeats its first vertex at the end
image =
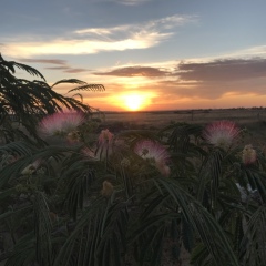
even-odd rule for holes
{"type": "Polygon", "coordinates": [[[206,141],[215,146],[228,147],[239,134],[239,129],[232,121],[216,121],[207,125],[203,132],[206,141]]]}

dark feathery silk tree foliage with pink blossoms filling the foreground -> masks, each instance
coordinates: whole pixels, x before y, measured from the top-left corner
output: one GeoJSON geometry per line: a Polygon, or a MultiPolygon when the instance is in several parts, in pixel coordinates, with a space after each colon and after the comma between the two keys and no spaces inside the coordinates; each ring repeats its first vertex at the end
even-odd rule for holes
{"type": "Polygon", "coordinates": [[[50,91],[35,104],[33,83],[10,74],[20,64],[1,63],[0,259],[7,266],[182,264],[183,249],[192,265],[266,265],[265,154],[241,142],[234,123],[115,135],[96,132],[88,116],[76,129],[65,126],[63,115],[49,116],[62,110],[59,102],[82,113],[90,108],[50,91]],[[25,83],[20,112],[6,95],[22,94],[25,83]],[[7,126],[11,111],[27,134],[7,126]],[[41,115],[25,124],[31,112],[41,115]],[[43,117],[50,124],[39,135],[43,117]]]}

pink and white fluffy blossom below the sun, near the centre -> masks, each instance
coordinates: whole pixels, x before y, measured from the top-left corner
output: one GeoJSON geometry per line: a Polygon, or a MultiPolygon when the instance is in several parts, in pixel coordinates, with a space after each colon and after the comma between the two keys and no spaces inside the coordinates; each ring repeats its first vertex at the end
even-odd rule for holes
{"type": "Polygon", "coordinates": [[[136,143],[134,152],[154,165],[164,176],[170,175],[170,167],[167,166],[170,155],[162,144],[151,140],[142,140],[136,143]]]}

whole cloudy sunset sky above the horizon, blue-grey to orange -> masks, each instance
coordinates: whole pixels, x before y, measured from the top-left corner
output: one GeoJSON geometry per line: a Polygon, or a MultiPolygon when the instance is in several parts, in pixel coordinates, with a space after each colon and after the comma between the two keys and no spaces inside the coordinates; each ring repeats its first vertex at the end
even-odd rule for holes
{"type": "Polygon", "coordinates": [[[101,111],[266,106],[265,10],[265,0],[2,0],[0,52],[50,85],[103,84],[81,91],[101,111]]]}

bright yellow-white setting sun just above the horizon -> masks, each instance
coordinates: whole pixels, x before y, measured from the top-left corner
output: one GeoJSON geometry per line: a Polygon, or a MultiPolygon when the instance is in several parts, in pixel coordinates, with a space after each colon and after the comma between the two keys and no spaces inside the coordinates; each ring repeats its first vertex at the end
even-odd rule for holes
{"type": "Polygon", "coordinates": [[[143,93],[127,93],[121,95],[120,102],[129,111],[139,111],[151,103],[151,98],[143,93]]]}

